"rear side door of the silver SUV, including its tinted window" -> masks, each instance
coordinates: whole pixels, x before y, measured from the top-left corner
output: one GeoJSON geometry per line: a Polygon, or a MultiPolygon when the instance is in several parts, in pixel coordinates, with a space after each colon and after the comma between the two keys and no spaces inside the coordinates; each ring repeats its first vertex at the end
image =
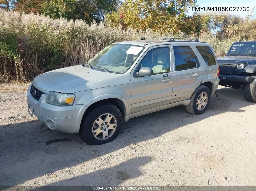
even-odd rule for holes
{"type": "Polygon", "coordinates": [[[202,81],[202,68],[191,46],[172,45],[175,68],[172,103],[189,99],[195,87],[202,81]]]}

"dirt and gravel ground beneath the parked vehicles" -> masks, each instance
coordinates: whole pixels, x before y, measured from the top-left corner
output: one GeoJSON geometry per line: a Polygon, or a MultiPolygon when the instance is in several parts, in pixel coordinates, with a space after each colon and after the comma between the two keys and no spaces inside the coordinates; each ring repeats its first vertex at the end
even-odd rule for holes
{"type": "Polygon", "coordinates": [[[219,88],[200,116],[179,106],[131,119],[89,146],[30,117],[27,86],[0,87],[0,185],[256,185],[256,104],[240,90],[219,88]]]}

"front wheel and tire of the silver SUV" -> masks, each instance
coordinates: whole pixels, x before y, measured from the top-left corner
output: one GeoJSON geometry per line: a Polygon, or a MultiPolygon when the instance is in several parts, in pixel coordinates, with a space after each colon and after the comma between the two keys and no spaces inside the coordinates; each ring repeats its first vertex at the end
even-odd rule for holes
{"type": "Polygon", "coordinates": [[[101,145],[113,141],[121,130],[123,117],[110,103],[93,109],[82,122],[79,135],[88,145],[101,145]]]}

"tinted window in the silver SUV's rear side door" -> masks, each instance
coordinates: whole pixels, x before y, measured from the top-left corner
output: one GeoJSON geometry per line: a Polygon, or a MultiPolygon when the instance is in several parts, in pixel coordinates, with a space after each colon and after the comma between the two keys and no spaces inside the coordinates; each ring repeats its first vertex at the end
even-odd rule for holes
{"type": "Polygon", "coordinates": [[[196,68],[196,55],[190,46],[173,46],[175,70],[196,68]]]}

